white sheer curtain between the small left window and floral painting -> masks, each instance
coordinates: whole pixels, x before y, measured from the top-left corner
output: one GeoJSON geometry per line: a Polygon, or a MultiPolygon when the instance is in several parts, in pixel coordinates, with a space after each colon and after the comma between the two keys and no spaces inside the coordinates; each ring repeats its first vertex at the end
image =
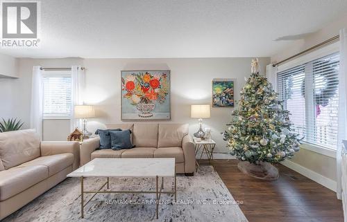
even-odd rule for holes
{"type": "Polygon", "coordinates": [[[85,71],[81,66],[71,67],[71,84],[72,84],[72,107],[71,107],[71,131],[76,127],[81,129],[81,121],[74,117],[74,106],[83,105],[83,94],[85,90],[85,71]]]}

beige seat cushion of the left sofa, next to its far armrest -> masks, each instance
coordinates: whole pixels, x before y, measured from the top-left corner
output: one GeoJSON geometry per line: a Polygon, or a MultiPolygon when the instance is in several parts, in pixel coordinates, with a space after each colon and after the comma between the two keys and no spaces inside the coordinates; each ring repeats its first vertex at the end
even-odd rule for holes
{"type": "Polygon", "coordinates": [[[41,156],[35,160],[28,161],[18,167],[27,166],[46,166],[48,167],[49,176],[62,171],[74,163],[74,154],[56,154],[51,156],[41,156]]]}

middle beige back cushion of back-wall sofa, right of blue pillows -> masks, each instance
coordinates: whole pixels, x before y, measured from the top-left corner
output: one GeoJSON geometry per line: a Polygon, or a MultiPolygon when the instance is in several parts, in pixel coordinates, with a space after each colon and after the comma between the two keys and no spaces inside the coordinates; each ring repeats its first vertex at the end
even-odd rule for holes
{"type": "Polygon", "coordinates": [[[135,123],[133,130],[133,145],[136,147],[157,147],[158,124],[135,123]]]}

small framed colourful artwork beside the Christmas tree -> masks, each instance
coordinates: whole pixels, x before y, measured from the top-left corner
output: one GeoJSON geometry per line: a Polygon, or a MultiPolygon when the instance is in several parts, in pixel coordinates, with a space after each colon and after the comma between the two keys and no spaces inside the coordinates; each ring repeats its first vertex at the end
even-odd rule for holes
{"type": "Polygon", "coordinates": [[[234,85],[232,79],[213,79],[212,107],[234,107],[234,85]]]}

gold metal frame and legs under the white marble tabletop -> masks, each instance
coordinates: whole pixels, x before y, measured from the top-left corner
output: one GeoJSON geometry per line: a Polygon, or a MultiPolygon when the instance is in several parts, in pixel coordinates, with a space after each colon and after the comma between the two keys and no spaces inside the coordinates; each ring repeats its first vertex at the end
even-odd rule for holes
{"type": "Polygon", "coordinates": [[[155,214],[158,219],[158,210],[159,210],[159,200],[161,194],[174,194],[174,199],[177,201],[177,183],[176,183],[176,170],[175,170],[175,176],[174,176],[174,191],[171,192],[164,192],[162,189],[164,189],[164,177],[162,178],[162,183],[159,188],[159,176],[155,176],[155,191],[115,191],[115,190],[101,190],[103,187],[107,186],[106,189],[110,189],[110,177],[107,177],[107,181],[98,189],[98,190],[88,190],[85,191],[83,188],[83,179],[85,177],[81,176],[81,218],[84,218],[84,207],[90,201],[92,201],[92,198],[96,196],[96,194],[155,194],[155,214]],[[94,194],[86,203],[84,201],[84,194],[94,194]]]}

